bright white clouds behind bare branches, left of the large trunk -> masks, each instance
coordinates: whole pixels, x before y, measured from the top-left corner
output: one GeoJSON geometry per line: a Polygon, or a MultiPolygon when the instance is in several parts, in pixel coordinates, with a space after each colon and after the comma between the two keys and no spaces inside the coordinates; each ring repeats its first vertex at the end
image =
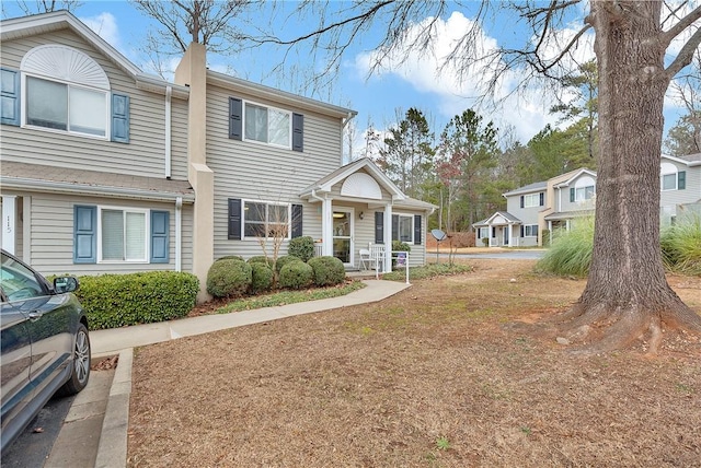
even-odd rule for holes
{"type": "MultiPolygon", "coordinates": [[[[411,44],[421,26],[414,26],[406,44],[411,44]]],[[[487,86],[487,78],[483,71],[486,63],[472,65],[466,70],[458,70],[455,66],[445,63],[446,57],[455,49],[458,42],[473,27],[472,20],[460,12],[453,12],[445,21],[439,19],[436,21],[433,47],[429,50],[399,48],[380,62],[380,66],[374,71],[374,75],[391,74],[410,83],[418,93],[434,94],[436,109],[446,120],[461,114],[467,108],[478,109],[478,100],[484,95],[487,86]]],[[[568,43],[577,31],[578,28],[574,25],[558,31],[545,44],[547,56],[554,57],[558,47],[568,43]]],[[[497,38],[491,37],[483,30],[479,30],[476,43],[475,46],[483,52],[496,50],[498,47],[497,38]]],[[[356,72],[361,77],[367,77],[371,65],[377,61],[379,52],[375,50],[356,56],[354,63],[356,72]]],[[[593,57],[594,52],[589,43],[579,47],[572,56],[566,57],[566,61],[582,63],[593,57]]],[[[521,141],[528,141],[547,124],[554,125],[558,117],[548,112],[555,103],[554,96],[550,92],[533,86],[526,90],[526,93],[514,93],[522,78],[522,72],[518,70],[509,70],[504,73],[492,90],[494,100],[483,101],[480,112],[485,115],[487,120],[513,126],[516,129],[517,138],[521,141]]]]}

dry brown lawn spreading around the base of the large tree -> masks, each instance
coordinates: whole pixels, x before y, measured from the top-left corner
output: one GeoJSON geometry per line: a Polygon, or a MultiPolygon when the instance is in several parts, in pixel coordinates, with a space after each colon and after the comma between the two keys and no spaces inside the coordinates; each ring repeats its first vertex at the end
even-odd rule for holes
{"type": "MultiPolygon", "coordinates": [[[[701,341],[575,356],[517,331],[585,281],[531,261],[137,350],[130,467],[701,467],[701,341]]],[[[701,279],[669,282],[701,313],[701,279]]]]}

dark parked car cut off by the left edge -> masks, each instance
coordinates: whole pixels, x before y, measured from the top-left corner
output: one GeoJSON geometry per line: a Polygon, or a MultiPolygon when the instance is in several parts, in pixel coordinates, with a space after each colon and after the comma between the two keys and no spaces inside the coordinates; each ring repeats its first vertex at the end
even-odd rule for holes
{"type": "Polygon", "coordinates": [[[73,395],[90,377],[88,319],[74,277],[49,283],[2,250],[0,341],[2,451],[54,394],[73,395]]]}

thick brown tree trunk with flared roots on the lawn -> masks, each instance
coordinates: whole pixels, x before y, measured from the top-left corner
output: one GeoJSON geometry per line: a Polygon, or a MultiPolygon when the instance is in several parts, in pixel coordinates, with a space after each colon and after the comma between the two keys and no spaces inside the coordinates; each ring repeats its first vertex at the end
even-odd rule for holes
{"type": "Polygon", "coordinates": [[[586,351],[667,328],[701,330],[701,316],[669,288],[659,248],[659,157],[668,79],[658,44],[660,1],[594,1],[599,139],[594,255],[587,286],[566,315],[586,351]],[[625,9],[630,11],[624,11],[625,9]],[[598,334],[591,341],[591,331],[598,334]]]}

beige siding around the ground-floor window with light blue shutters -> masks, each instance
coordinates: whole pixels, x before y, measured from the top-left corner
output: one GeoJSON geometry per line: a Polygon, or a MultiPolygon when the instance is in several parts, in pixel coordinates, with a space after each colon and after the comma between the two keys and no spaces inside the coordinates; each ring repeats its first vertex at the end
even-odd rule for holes
{"type": "MultiPolygon", "coordinates": [[[[30,196],[25,194],[25,196],[30,196]]],[[[128,273],[175,268],[175,203],[152,203],[139,200],[84,198],[64,195],[31,194],[32,258],[25,258],[45,274],[128,273]],[[170,264],[73,264],[73,207],[101,206],[150,209],[170,212],[170,264]]],[[[182,270],[192,268],[192,206],[183,208],[182,270]],[[185,230],[186,226],[186,230],[185,230]]]]}

